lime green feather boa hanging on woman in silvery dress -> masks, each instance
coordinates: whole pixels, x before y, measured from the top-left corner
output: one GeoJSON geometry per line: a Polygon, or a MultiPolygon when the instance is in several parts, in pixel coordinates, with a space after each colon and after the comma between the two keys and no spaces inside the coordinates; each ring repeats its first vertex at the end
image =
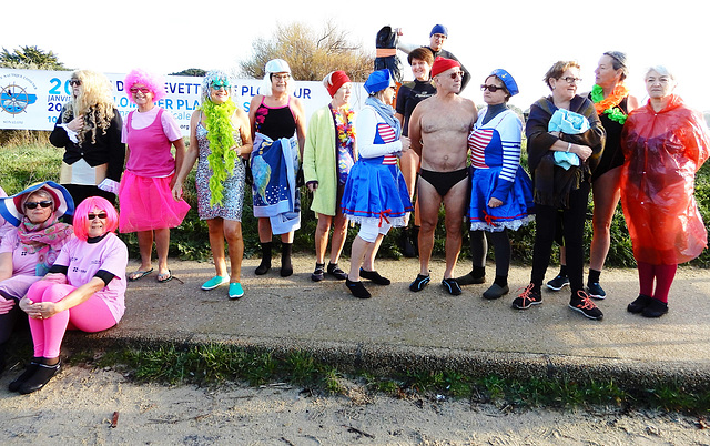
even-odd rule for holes
{"type": "Polygon", "coordinates": [[[232,115],[236,110],[236,104],[230,98],[222,104],[206,100],[202,103],[202,112],[206,118],[207,141],[210,141],[210,156],[207,161],[212,169],[210,178],[210,192],[212,199],[210,205],[222,204],[224,200],[224,181],[234,171],[234,163],[239,158],[239,152],[232,150],[234,141],[234,128],[232,126],[232,115]]]}

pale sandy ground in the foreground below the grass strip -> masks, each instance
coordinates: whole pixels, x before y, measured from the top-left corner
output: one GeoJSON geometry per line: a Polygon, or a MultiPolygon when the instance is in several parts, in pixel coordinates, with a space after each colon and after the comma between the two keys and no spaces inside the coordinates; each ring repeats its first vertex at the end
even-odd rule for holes
{"type": "Polygon", "coordinates": [[[0,379],[3,445],[710,445],[710,429],[697,417],[653,410],[513,412],[373,396],[354,384],[338,396],[287,385],[136,385],[110,369],[82,367],[22,396],[7,391],[17,373],[0,379]]]}

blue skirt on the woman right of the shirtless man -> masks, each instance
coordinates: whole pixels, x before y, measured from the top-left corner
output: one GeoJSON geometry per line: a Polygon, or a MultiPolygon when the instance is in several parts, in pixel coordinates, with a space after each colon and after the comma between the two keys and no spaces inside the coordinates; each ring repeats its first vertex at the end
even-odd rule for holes
{"type": "Polygon", "coordinates": [[[501,168],[475,169],[471,175],[470,204],[468,217],[471,231],[499,232],[504,229],[518,230],[535,220],[532,209],[532,182],[527,172],[518,166],[513,186],[499,207],[488,207],[500,180],[501,168]]]}

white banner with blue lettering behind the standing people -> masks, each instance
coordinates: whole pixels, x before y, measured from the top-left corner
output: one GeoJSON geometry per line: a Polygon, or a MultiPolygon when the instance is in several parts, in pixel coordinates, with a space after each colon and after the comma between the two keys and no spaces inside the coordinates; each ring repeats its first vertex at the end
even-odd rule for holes
{"type": "MultiPolygon", "coordinates": [[[[0,69],[0,129],[52,130],[62,105],[69,102],[71,71],[0,69]]],[[[135,109],[125,94],[125,74],[106,74],[113,87],[113,101],[122,118],[135,109]]],[[[173,113],[183,135],[190,134],[190,116],[200,105],[202,78],[165,77],[165,98],[156,104],[173,113]]],[[[232,80],[232,99],[248,113],[250,102],[260,94],[261,80],[232,80]]],[[[367,93],[357,84],[353,108],[358,110],[367,93]]],[[[296,81],[296,98],[303,101],[306,120],[317,109],[331,102],[322,82],[296,81]]]]}

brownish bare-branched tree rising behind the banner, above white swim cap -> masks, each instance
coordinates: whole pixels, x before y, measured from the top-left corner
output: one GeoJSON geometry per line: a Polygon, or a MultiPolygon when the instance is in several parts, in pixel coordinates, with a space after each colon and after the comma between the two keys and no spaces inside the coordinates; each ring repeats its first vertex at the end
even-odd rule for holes
{"type": "Polygon", "coordinates": [[[327,22],[321,32],[295,22],[278,26],[271,39],[253,42],[253,57],[240,62],[241,75],[261,79],[272,59],[284,59],[294,79],[320,81],[335,70],[345,71],[354,82],[364,82],[373,71],[374,58],[361,44],[348,42],[348,33],[327,22]]]}

